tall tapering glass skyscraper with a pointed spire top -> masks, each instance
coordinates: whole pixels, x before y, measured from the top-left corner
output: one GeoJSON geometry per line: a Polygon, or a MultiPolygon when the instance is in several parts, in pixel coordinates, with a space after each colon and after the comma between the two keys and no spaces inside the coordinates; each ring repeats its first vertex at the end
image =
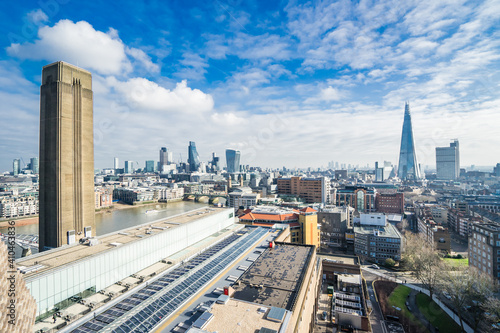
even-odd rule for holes
{"type": "Polygon", "coordinates": [[[405,103],[403,133],[401,134],[401,149],[399,151],[398,177],[402,180],[421,179],[420,166],[417,162],[415,141],[411,125],[410,103],[405,103]]]}

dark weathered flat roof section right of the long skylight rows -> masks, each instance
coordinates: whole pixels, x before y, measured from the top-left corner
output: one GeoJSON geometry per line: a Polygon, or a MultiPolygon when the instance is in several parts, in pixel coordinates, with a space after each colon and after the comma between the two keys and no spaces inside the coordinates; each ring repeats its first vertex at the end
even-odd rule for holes
{"type": "Polygon", "coordinates": [[[309,245],[276,243],[234,283],[233,297],[292,311],[313,251],[309,245]]]}

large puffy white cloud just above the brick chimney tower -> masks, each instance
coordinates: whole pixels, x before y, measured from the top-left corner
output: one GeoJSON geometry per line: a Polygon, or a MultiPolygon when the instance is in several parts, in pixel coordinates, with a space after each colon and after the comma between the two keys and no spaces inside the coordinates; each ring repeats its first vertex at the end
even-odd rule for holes
{"type": "Polygon", "coordinates": [[[7,53],[20,59],[64,60],[105,75],[130,73],[133,67],[129,55],[146,69],[158,71],[143,51],[126,47],[116,30],[98,31],[85,21],[61,20],[53,27],[42,26],[37,40],[13,43],[7,53]]]}

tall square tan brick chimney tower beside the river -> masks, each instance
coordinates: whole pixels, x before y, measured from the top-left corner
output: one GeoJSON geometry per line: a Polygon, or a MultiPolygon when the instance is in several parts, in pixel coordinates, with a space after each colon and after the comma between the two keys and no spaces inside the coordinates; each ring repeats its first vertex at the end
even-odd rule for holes
{"type": "Polygon", "coordinates": [[[92,75],[62,61],[40,87],[40,251],[95,235],[92,75]]]}

